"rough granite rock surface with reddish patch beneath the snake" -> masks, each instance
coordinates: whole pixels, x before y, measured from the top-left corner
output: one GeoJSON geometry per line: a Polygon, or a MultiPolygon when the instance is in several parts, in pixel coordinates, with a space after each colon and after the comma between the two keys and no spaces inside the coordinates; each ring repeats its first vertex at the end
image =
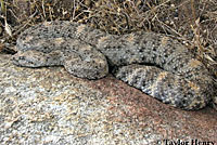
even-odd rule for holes
{"type": "Polygon", "coordinates": [[[217,144],[217,111],[169,107],[108,76],[25,68],[0,54],[0,144],[217,144]]]}

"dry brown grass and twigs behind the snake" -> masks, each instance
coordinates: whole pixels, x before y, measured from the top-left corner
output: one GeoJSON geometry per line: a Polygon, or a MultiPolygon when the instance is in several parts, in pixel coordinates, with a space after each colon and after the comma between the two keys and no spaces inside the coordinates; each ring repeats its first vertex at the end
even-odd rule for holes
{"type": "Polygon", "coordinates": [[[217,0],[1,0],[1,50],[10,51],[9,45],[15,44],[17,35],[27,27],[43,21],[66,19],[116,35],[137,30],[168,35],[184,43],[217,76],[217,0]]]}

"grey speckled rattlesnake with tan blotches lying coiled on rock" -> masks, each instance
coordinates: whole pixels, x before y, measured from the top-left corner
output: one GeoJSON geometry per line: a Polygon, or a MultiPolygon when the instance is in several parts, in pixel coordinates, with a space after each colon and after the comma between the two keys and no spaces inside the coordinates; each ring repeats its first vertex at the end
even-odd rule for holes
{"type": "Polygon", "coordinates": [[[182,109],[199,109],[214,96],[205,66],[178,41],[154,32],[108,35],[73,22],[46,22],[17,39],[13,63],[41,67],[63,65],[80,78],[113,75],[142,92],[182,109]],[[146,66],[152,64],[153,66],[146,66]]]}

